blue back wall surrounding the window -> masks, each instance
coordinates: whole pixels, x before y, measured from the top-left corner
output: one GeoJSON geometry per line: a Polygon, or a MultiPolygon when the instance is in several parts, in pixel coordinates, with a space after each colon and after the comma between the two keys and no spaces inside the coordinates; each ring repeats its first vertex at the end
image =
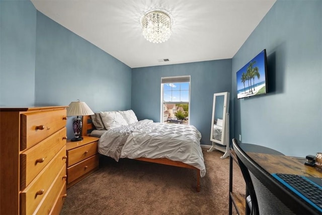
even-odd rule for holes
{"type": "Polygon", "coordinates": [[[230,92],[231,59],[132,69],[131,107],[139,119],[160,121],[161,78],[190,78],[190,124],[201,132],[201,144],[211,145],[213,94],[230,92]]]}

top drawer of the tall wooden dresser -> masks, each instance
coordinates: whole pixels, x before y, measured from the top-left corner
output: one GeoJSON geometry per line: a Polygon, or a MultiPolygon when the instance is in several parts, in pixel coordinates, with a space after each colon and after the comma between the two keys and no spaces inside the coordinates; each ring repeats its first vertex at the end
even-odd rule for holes
{"type": "Polygon", "coordinates": [[[20,150],[25,150],[66,125],[66,110],[21,114],[20,150]]]}

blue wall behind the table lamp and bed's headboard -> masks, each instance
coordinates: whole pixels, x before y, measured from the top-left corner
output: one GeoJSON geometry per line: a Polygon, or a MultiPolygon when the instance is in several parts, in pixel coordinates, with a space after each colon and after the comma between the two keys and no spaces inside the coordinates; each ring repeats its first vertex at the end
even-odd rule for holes
{"type": "MultiPolygon", "coordinates": [[[[131,108],[131,68],[37,12],[36,105],[85,101],[94,112],[131,108]]],[[[73,137],[67,120],[67,137],[73,137]]]]}

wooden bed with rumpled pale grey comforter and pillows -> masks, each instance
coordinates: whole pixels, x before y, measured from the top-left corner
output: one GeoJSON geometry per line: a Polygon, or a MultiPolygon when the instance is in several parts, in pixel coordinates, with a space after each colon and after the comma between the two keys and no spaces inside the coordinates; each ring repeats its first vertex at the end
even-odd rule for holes
{"type": "Polygon", "coordinates": [[[100,137],[99,153],[116,161],[129,158],[196,170],[196,189],[200,191],[200,177],[206,174],[206,169],[201,134],[194,126],[138,121],[132,110],[107,111],[83,116],[85,135],[100,137]],[[100,117],[102,122],[98,124],[100,117]]]}

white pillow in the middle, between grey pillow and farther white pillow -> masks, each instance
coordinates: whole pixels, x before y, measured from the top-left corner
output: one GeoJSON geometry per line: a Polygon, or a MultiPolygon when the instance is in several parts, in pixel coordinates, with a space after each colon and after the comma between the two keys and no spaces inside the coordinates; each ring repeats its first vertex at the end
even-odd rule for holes
{"type": "Polygon", "coordinates": [[[123,116],[117,111],[101,111],[100,115],[106,129],[128,125],[123,116]]]}

